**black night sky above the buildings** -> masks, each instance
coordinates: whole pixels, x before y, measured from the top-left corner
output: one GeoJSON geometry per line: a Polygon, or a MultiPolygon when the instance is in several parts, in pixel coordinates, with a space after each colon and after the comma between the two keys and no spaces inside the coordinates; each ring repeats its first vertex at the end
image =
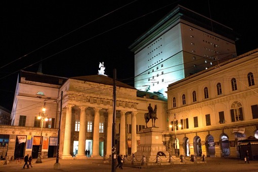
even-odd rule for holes
{"type": "Polygon", "coordinates": [[[241,35],[237,54],[258,48],[253,1],[0,1],[0,106],[12,110],[18,71],[72,77],[105,74],[134,85],[130,46],[178,4],[241,35]],[[131,78],[131,79],[126,79],[131,78]]]}

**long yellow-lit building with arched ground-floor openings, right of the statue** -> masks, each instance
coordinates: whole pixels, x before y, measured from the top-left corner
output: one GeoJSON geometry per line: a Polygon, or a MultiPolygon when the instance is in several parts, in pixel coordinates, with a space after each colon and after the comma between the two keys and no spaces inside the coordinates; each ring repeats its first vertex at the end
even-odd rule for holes
{"type": "Polygon", "coordinates": [[[169,84],[167,112],[174,127],[168,135],[179,154],[243,157],[248,150],[257,159],[257,78],[258,50],[253,50],[169,84]],[[249,137],[256,139],[241,148],[249,137]]]}

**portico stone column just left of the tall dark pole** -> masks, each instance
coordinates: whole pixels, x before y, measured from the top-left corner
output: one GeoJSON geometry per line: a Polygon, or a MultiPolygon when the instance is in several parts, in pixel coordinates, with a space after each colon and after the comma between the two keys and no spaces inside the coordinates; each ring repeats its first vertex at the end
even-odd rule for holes
{"type": "Polygon", "coordinates": [[[106,156],[112,154],[112,123],[113,123],[113,110],[108,109],[108,123],[107,123],[107,148],[106,148],[106,156]]]}

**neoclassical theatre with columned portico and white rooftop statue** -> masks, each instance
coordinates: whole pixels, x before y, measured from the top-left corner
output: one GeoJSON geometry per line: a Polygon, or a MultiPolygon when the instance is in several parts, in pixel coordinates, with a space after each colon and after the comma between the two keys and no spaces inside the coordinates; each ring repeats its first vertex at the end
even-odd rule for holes
{"type": "MultiPolygon", "coordinates": [[[[115,144],[120,154],[137,151],[138,132],[146,127],[144,113],[149,104],[153,108],[157,105],[156,126],[165,132],[166,99],[117,81],[115,144]]],[[[60,158],[86,158],[85,150],[90,151],[91,157],[111,155],[113,78],[103,74],[64,78],[20,71],[12,126],[3,129],[9,136],[9,157],[37,157],[41,134],[41,120],[37,116],[43,106],[49,120],[43,122],[42,158],[56,156],[60,114],[60,158]]]]}

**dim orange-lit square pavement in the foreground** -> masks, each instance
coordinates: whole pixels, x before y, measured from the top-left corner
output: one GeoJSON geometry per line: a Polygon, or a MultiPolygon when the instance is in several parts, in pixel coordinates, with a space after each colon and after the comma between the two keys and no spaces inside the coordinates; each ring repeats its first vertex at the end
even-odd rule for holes
{"type": "MultiPolygon", "coordinates": [[[[36,172],[61,172],[61,171],[112,171],[111,164],[104,162],[103,159],[59,159],[61,165],[60,169],[54,169],[56,158],[44,158],[42,163],[35,163],[36,159],[32,161],[32,168],[23,168],[24,162],[16,163],[10,161],[7,165],[0,166],[0,172],[3,171],[36,171],[36,172]]],[[[243,160],[235,158],[206,158],[205,163],[196,164],[174,164],[174,165],[155,165],[155,166],[132,166],[125,164],[123,169],[116,169],[116,171],[258,171],[258,161],[250,161],[245,164],[243,160]]]]}

